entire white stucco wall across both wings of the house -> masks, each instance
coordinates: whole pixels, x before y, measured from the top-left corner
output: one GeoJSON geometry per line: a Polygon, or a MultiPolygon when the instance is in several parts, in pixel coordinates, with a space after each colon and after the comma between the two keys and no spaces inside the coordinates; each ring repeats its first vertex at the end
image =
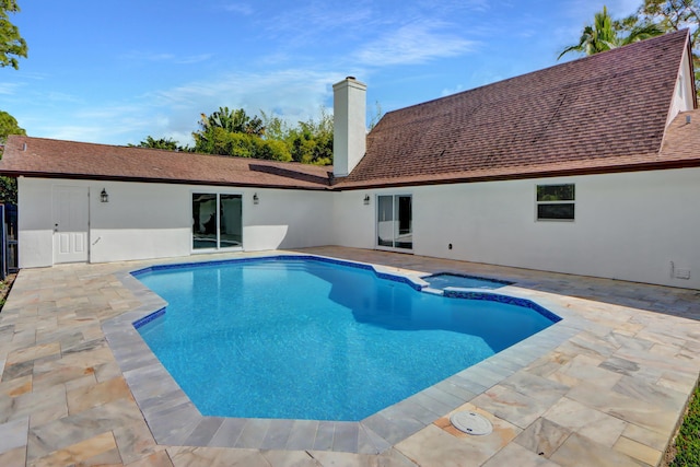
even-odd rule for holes
{"type": "Polygon", "coordinates": [[[685,168],[324,192],[21,177],[20,267],[52,264],[54,185],[90,188],[92,262],[190,255],[192,191],[243,196],[246,250],[375,248],[376,196],[411,195],[417,255],[700,289],[699,182],[685,168]],[[567,183],[575,220],[537,221],[535,187],[567,183]]]}

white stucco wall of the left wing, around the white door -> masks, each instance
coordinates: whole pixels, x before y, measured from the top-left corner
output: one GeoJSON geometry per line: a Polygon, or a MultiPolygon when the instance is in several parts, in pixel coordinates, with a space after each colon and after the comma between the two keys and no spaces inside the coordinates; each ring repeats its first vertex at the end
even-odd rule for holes
{"type": "Polygon", "coordinates": [[[246,250],[325,245],[331,241],[329,192],[236,189],[168,184],[19,179],[20,267],[54,261],[54,186],[90,189],[91,262],[166,258],[191,254],[191,194],[243,196],[243,247],[246,250]],[[100,202],[106,189],[109,202],[100,202]],[[259,203],[253,203],[257,192],[259,203]]]}

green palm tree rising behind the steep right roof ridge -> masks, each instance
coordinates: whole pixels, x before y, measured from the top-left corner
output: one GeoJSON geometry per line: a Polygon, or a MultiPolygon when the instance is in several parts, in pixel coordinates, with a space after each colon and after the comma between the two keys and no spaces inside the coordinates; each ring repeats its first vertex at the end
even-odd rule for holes
{"type": "Polygon", "coordinates": [[[585,55],[598,54],[628,44],[643,40],[653,36],[658,36],[664,32],[655,24],[635,24],[629,28],[627,35],[620,35],[626,27],[612,21],[608,14],[607,7],[595,14],[593,25],[583,28],[579,44],[567,47],[557,60],[564,54],[576,51],[585,55]]]}

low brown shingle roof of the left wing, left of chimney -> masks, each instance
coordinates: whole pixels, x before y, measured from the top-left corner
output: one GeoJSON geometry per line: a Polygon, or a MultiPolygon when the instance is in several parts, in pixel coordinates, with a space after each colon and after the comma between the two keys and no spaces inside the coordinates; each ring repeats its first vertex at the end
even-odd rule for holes
{"type": "Polygon", "coordinates": [[[304,189],[328,188],[328,171],[308,164],[24,136],[8,138],[0,161],[5,175],[304,189]]]}

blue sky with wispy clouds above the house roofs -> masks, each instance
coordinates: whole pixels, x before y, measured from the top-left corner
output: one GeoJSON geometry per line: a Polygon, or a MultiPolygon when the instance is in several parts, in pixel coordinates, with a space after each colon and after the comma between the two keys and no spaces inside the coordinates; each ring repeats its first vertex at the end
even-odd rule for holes
{"type": "Polygon", "coordinates": [[[189,144],[220,106],[317,117],[353,75],[371,118],[556,65],[604,3],[641,0],[19,0],[30,52],[0,110],[33,137],[189,144]]]}

